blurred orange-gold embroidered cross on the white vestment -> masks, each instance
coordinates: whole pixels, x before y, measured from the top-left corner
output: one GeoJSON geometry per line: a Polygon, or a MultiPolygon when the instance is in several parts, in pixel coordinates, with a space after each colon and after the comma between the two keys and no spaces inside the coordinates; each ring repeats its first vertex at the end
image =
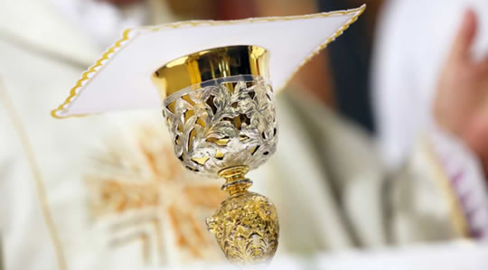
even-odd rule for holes
{"type": "Polygon", "coordinates": [[[155,258],[163,263],[170,248],[164,246],[168,243],[164,232],[169,231],[174,247],[185,256],[220,258],[203,222],[225,198],[220,186],[184,171],[166,143],[164,126],[142,126],[137,131],[129,143],[136,147],[111,140],[108,151],[95,159],[95,172],[86,176],[93,218],[115,220],[108,231],[113,239],[110,247],[144,239],[142,254],[149,258],[145,263],[155,265],[155,258]],[[124,236],[127,231],[130,237],[124,236]]]}

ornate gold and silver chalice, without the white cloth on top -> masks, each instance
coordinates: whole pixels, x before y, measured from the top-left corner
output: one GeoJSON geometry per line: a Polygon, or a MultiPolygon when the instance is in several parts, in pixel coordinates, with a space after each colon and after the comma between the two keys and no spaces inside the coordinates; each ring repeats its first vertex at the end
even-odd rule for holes
{"type": "Polygon", "coordinates": [[[153,75],[176,157],[192,172],[225,179],[230,197],[207,226],[225,256],[243,265],[266,262],[278,244],[277,209],[248,191],[245,177],[276,150],[267,61],[264,48],[227,46],[170,61],[153,75]]]}

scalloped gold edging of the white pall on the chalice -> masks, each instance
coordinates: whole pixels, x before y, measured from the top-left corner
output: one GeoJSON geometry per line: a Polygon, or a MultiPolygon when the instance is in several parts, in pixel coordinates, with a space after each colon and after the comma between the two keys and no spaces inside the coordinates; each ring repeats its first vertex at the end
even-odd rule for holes
{"type": "MultiPolygon", "coordinates": [[[[112,47],[108,48],[107,51],[105,51],[102,55],[102,57],[95,62],[95,64],[91,67],[89,67],[89,70],[86,70],[81,74],[81,78],[77,81],[76,85],[70,89],[70,96],[64,100],[64,102],[57,108],[53,109],[51,111],[51,116],[54,118],[68,118],[71,116],[86,116],[86,115],[70,115],[70,116],[58,116],[58,113],[60,113],[62,110],[66,109],[67,107],[70,106],[71,102],[73,102],[77,97],[78,94],[77,91],[79,88],[83,86],[83,82],[86,80],[89,80],[89,75],[91,73],[96,73],[98,72],[99,68],[101,68],[104,65],[104,61],[108,61],[109,58],[114,54],[117,50],[119,50],[122,46],[123,43],[127,42],[130,40],[129,33],[135,32],[137,30],[150,30],[150,31],[161,31],[164,29],[176,29],[176,28],[181,28],[184,26],[189,26],[189,27],[194,27],[194,26],[199,26],[199,25],[228,25],[228,24],[237,24],[237,23],[254,23],[254,22],[276,22],[276,21],[290,21],[290,20],[298,20],[298,19],[311,19],[311,18],[316,18],[316,17],[328,17],[332,15],[337,15],[337,14],[355,14],[349,22],[345,23],[343,27],[341,27],[339,30],[337,30],[331,37],[329,37],[324,43],[320,44],[317,48],[315,48],[314,51],[312,51],[304,61],[302,61],[297,67],[296,70],[294,70],[291,75],[288,77],[288,79],[285,80],[284,87],[290,79],[293,78],[293,76],[296,74],[300,68],[302,68],[306,62],[310,61],[319,51],[324,49],[330,42],[333,42],[338,36],[340,36],[352,23],[356,22],[358,17],[364,12],[366,9],[366,5],[361,5],[358,8],[350,9],[350,10],[343,10],[343,11],[333,11],[329,13],[322,13],[322,14],[307,14],[307,15],[296,15],[296,16],[277,16],[277,17],[261,17],[261,18],[249,18],[249,19],[243,19],[243,20],[233,20],[233,21],[186,21],[186,22],[178,22],[178,23],[167,23],[161,26],[149,26],[149,27],[138,27],[138,28],[133,28],[133,29],[127,29],[124,31],[122,34],[122,38],[118,40],[112,47]]],[[[93,74],[95,75],[95,74],[93,74]]],[[[283,87],[283,88],[284,88],[283,87]]],[[[281,90],[278,89],[278,91],[281,90]]]]}

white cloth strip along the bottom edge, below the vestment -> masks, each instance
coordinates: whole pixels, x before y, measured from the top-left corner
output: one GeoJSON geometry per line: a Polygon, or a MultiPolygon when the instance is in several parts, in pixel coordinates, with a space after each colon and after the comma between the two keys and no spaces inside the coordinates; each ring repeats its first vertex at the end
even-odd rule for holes
{"type": "MultiPolygon", "coordinates": [[[[394,248],[375,252],[352,251],[340,255],[277,256],[269,265],[254,266],[253,270],[485,270],[488,247],[465,242],[449,245],[394,248]]],[[[164,267],[161,270],[227,270],[230,265],[192,265],[164,267]]],[[[156,270],[156,268],[153,268],[156,270]]]]}

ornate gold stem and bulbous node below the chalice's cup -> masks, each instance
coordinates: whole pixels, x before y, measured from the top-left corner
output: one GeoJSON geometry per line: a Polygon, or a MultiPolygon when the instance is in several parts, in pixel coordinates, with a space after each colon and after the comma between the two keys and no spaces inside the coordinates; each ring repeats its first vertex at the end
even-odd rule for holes
{"type": "Polygon", "coordinates": [[[219,172],[226,178],[222,188],[230,198],[207,219],[207,227],[230,262],[266,264],[277,251],[277,209],[265,196],[248,191],[252,184],[244,178],[248,171],[246,166],[237,166],[219,172]]]}

